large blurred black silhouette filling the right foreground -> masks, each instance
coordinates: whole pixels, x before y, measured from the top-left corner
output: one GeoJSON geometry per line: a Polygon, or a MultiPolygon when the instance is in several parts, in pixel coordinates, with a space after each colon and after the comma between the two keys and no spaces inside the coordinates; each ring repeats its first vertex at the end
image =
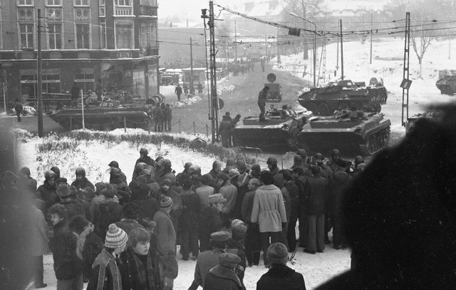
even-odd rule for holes
{"type": "Polygon", "coordinates": [[[316,289],[456,289],[456,103],[437,109],[346,191],[351,270],[316,289]]]}

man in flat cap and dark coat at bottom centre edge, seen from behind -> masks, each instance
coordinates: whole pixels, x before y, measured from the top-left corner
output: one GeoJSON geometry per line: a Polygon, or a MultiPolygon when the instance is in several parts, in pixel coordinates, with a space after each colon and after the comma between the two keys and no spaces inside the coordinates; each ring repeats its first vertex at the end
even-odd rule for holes
{"type": "Polygon", "coordinates": [[[236,254],[224,253],[219,256],[217,266],[209,270],[203,290],[236,290],[242,289],[242,283],[236,275],[236,267],[241,262],[236,254]]]}

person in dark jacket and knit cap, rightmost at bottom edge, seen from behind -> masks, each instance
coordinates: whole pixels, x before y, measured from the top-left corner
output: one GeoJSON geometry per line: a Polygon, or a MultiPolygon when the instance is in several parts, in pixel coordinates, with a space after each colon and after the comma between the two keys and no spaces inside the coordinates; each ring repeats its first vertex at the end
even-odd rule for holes
{"type": "Polygon", "coordinates": [[[267,255],[271,269],[257,281],[257,290],[306,290],[302,274],[286,266],[288,253],[284,244],[277,242],[270,245],[267,255]]]}

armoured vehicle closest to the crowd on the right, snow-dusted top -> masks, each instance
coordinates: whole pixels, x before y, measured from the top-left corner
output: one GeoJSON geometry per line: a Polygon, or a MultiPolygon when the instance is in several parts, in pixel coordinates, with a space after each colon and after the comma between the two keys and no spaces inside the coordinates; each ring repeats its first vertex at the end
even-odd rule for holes
{"type": "Polygon", "coordinates": [[[338,110],[333,116],[309,118],[297,136],[297,143],[314,153],[337,148],[344,153],[368,156],[388,146],[390,125],[381,113],[338,110]]]}

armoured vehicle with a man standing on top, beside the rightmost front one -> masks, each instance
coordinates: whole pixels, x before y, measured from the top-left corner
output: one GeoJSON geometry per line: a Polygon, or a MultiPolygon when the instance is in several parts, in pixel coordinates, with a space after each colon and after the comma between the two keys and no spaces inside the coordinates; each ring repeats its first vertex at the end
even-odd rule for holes
{"type": "Polygon", "coordinates": [[[250,146],[261,149],[276,146],[291,146],[299,130],[311,117],[311,112],[296,104],[284,104],[281,107],[270,105],[265,114],[266,121],[259,117],[245,117],[232,131],[235,146],[250,146]]]}

